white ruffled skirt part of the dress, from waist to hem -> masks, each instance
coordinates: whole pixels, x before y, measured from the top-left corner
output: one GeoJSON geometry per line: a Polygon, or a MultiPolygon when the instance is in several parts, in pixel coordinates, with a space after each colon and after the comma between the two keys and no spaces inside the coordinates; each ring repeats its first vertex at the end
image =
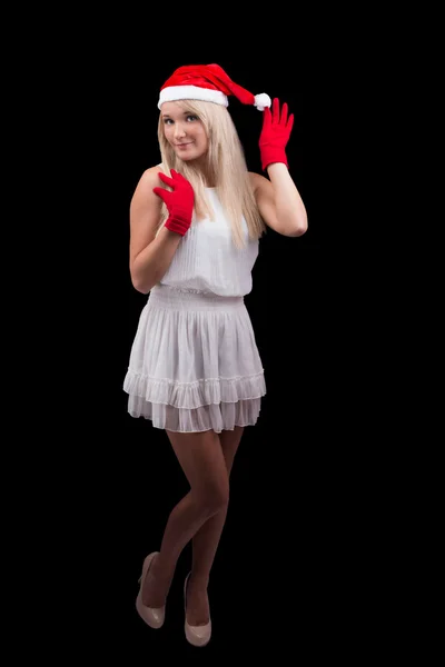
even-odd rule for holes
{"type": "Polygon", "coordinates": [[[154,287],[123,390],[129,414],[156,428],[220,432],[255,425],[266,384],[244,298],[154,287]]]}

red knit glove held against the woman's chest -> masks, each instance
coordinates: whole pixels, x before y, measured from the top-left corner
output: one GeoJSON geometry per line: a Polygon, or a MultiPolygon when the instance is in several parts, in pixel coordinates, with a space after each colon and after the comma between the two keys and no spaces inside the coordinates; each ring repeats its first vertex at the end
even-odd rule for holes
{"type": "Polygon", "coordinates": [[[164,199],[170,213],[166,227],[170,231],[176,231],[176,233],[184,236],[191,225],[195,203],[194,189],[189,181],[175,171],[175,169],[171,169],[171,178],[161,171],[159,171],[158,176],[166,186],[174,189],[170,192],[165,188],[154,188],[154,192],[164,199]]]}

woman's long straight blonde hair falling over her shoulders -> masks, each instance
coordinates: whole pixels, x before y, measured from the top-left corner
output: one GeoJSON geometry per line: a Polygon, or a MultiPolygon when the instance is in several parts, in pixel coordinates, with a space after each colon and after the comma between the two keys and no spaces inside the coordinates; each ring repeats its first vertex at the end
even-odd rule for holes
{"type": "MultiPolygon", "coordinates": [[[[231,116],[225,107],[212,102],[180,100],[177,103],[185,111],[198,116],[204,125],[209,141],[206,172],[215,185],[219,201],[229,218],[234,243],[237,248],[243,248],[245,247],[243,216],[250,239],[259,239],[267,228],[255,201],[243,146],[231,116]]],[[[158,139],[164,171],[170,176],[170,169],[175,169],[190,181],[194,188],[196,219],[206,216],[211,218],[214,211],[206,196],[207,183],[204,173],[194,166],[192,161],[184,161],[177,157],[164,135],[161,116],[159,116],[158,139]]],[[[167,217],[167,207],[162,205],[158,231],[167,217]]]]}

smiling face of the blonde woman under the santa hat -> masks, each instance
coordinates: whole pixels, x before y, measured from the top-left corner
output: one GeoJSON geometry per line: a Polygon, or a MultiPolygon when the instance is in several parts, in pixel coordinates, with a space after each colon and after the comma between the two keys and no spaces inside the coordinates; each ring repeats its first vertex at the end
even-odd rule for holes
{"type": "Polygon", "coordinates": [[[176,102],[164,102],[161,115],[165,137],[178,158],[197,160],[207,152],[208,139],[198,116],[176,102]]]}

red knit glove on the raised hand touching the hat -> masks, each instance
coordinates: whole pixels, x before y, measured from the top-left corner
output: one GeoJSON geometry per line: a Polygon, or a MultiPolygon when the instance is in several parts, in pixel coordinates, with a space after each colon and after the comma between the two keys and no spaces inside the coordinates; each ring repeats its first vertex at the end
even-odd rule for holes
{"type": "Polygon", "coordinates": [[[259,137],[259,150],[261,155],[261,166],[264,171],[273,162],[284,162],[286,167],[286,143],[289,140],[294,126],[294,113],[287,119],[287,103],[283,104],[281,118],[279,118],[279,101],[275,98],[273,101],[273,111],[269,107],[264,110],[263,130],[259,137]]]}

